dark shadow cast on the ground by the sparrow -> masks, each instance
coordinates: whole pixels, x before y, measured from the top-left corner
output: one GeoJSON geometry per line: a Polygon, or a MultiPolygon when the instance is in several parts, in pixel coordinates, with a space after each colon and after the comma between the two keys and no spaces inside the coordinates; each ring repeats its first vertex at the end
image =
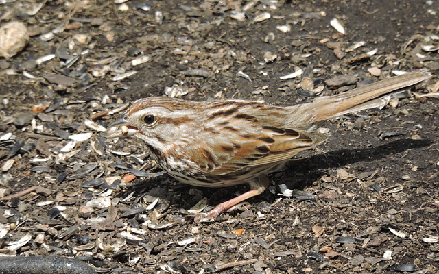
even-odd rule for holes
{"type": "MultiPolygon", "coordinates": [[[[385,143],[378,147],[339,149],[327,153],[319,153],[306,158],[293,158],[292,161],[285,165],[285,169],[278,171],[281,176],[277,176],[277,173],[274,173],[275,175],[271,175],[270,177],[276,184],[285,184],[290,189],[295,188],[302,190],[311,186],[313,182],[316,182],[317,179],[327,174],[331,169],[358,162],[372,162],[383,159],[385,155],[401,153],[407,149],[419,149],[429,145],[431,145],[430,140],[401,139],[385,143]]],[[[162,182],[167,178],[168,175],[162,175],[154,179],[149,179],[146,182],[149,185],[147,187],[145,187],[145,182],[133,184],[128,186],[130,189],[127,189],[127,191],[145,193],[150,191],[151,188],[154,188],[154,186],[165,188],[162,182]]],[[[202,195],[209,197],[209,204],[212,206],[234,197],[235,192],[244,193],[248,191],[248,186],[245,185],[220,188],[219,190],[219,188],[198,188],[187,184],[177,184],[174,186],[173,193],[168,192],[167,195],[161,195],[161,198],[167,199],[167,201],[179,208],[188,209],[202,199],[202,196],[194,197],[193,194],[189,194],[189,190],[192,188],[201,190],[202,195]]],[[[268,201],[275,198],[276,195],[265,191],[263,195],[253,197],[250,201],[268,201]]]]}

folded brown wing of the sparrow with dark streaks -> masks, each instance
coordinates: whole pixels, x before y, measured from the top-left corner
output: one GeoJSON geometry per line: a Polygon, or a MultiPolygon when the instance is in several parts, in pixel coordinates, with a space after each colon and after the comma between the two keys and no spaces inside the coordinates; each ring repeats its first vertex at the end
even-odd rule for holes
{"type": "Polygon", "coordinates": [[[224,136],[218,136],[218,133],[210,143],[200,138],[199,142],[192,142],[193,145],[187,148],[193,153],[187,153],[185,157],[195,163],[193,166],[200,167],[203,173],[224,175],[246,167],[274,165],[315,147],[325,139],[321,134],[311,136],[294,129],[276,127],[259,127],[257,132],[251,127],[245,132],[242,129],[241,132],[233,129],[222,132],[224,136]]]}

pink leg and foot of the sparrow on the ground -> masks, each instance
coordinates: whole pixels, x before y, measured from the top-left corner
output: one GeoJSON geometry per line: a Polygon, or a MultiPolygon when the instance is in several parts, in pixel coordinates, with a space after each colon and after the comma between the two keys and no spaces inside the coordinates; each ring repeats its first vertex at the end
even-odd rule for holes
{"type": "Polygon", "coordinates": [[[225,201],[224,203],[219,203],[218,206],[215,206],[215,208],[213,208],[213,210],[209,212],[198,213],[195,216],[195,221],[200,221],[204,218],[215,219],[217,216],[219,216],[219,214],[222,214],[222,212],[228,210],[233,206],[236,206],[238,203],[241,203],[241,201],[245,201],[246,199],[260,195],[262,192],[265,191],[265,189],[267,189],[269,182],[268,178],[263,175],[259,176],[258,179],[259,180],[255,180],[255,182],[250,183],[250,187],[253,188],[252,190],[249,190],[246,193],[239,195],[238,197],[225,201]]]}

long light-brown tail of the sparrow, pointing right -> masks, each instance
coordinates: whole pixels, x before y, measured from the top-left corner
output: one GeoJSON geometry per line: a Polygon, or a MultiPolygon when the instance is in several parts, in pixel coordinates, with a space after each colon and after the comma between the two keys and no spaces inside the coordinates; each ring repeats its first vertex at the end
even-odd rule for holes
{"type": "Polygon", "coordinates": [[[368,108],[383,108],[393,95],[401,90],[410,88],[431,75],[423,72],[412,72],[384,79],[382,81],[355,88],[351,91],[328,97],[315,99],[311,105],[316,110],[314,123],[324,121],[368,108]]]}

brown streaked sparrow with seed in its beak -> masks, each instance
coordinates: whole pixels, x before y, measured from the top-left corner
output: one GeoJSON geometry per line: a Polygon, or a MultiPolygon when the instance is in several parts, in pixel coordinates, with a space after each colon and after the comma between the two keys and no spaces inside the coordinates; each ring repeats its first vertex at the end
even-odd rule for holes
{"type": "Polygon", "coordinates": [[[326,139],[318,132],[335,116],[383,107],[388,95],[414,86],[427,73],[407,73],[312,103],[279,107],[256,101],[185,101],[150,97],[134,102],[113,137],[137,137],[172,177],[193,186],[250,184],[251,190],[220,203],[196,220],[217,217],[228,208],[261,194],[267,173],[281,169],[300,151],[326,139]]]}

